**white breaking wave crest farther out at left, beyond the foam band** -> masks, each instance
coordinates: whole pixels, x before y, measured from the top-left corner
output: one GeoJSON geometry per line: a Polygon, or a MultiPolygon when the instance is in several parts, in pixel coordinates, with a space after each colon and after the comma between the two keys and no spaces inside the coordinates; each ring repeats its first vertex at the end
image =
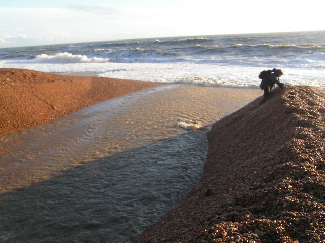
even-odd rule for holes
{"type": "Polygon", "coordinates": [[[40,54],[34,59],[39,63],[103,63],[109,62],[109,58],[87,57],[86,55],[74,55],[69,52],[60,52],[55,55],[40,54]]]}

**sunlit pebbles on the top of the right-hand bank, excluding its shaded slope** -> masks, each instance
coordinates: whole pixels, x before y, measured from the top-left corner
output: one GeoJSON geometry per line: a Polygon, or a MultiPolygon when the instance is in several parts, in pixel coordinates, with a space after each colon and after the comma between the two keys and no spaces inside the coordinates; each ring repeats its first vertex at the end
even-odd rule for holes
{"type": "MultiPolygon", "coordinates": [[[[309,92],[312,96],[315,92],[312,89],[299,91],[307,95],[309,92]]],[[[295,90],[295,94],[297,92],[295,90]]],[[[318,99],[318,109],[323,109],[325,105],[325,95],[323,93],[321,95],[321,102],[318,99]]],[[[294,107],[299,114],[296,136],[303,136],[304,139],[294,139],[288,145],[285,160],[287,163],[277,169],[277,174],[283,178],[272,184],[277,194],[272,199],[272,203],[268,203],[263,194],[256,194],[254,204],[246,209],[247,212],[263,204],[261,213],[268,213],[269,216],[261,219],[259,218],[261,215],[257,212],[242,215],[243,209],[238,208],[239,211],[236,213],[241,217],[238,222],[213,225],[202,231],[200,239],[196,242],[261,242],[261,240],[266,243],[325,242],[324,155],[318,152],[321,150],[315,151],[321,144],[315,140],[324,138],[322,131],[325,131],[325,118],[323,115],[309,116],[306,111],[315,109],[315,103],[309,102],[306,97],[301,98],[300,95],[296,95],[295,99],[299,105],[289,104],[288,107],[294,107]],[[312,129],[315,128],[313,124],[316,123],[317,129],[312,129]]],[[[269,185],[266,184],[265,187],[267,186],[269,185]]],[[[260,187],[263,188],[263,185],[260,187]]],[[[261,192],[267,191],[261,190],[261,192]]]]}

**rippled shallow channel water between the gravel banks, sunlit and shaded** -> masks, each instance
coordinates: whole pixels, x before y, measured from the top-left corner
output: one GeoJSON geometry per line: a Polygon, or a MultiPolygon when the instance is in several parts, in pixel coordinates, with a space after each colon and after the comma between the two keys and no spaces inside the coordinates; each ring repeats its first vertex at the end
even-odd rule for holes
{"type": "Polygon", "coordinates": [[[198,182],[210,125],[259,95],[161,86],[0,137],[1,241],[130,242],[198,182]]]}

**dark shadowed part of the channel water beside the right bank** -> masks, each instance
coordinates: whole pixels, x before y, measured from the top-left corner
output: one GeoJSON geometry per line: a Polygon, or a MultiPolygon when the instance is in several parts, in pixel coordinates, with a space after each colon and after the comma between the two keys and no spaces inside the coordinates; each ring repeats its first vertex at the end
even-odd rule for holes
{"type": "Polygon", "coordinates": [[[198,182],[209,126],[0,195],[2,242],[131,242],[198,182]]]}

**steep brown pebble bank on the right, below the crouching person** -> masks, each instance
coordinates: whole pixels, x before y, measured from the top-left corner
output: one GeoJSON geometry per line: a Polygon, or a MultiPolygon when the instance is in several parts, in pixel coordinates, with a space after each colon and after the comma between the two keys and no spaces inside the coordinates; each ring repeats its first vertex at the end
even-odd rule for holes
{"type": "Polygon", "coordinates": [[[208,132],[202,178],[140,242],[325,242],[325,93],[275,89],[208,132]]]}

